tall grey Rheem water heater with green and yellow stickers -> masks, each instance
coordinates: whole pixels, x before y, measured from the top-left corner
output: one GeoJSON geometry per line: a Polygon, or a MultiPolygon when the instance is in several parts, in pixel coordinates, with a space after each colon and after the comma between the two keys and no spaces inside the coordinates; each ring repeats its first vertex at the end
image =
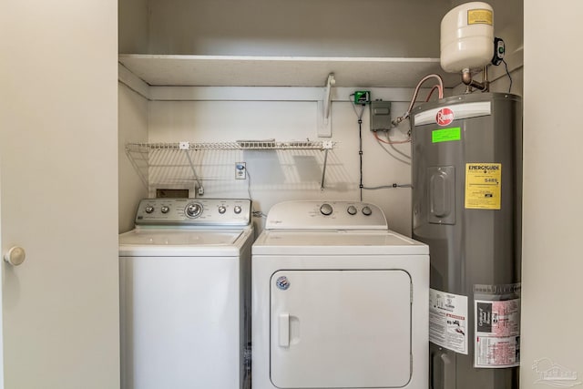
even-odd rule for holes
{"type": "Polygon", "coordinates": [[[518,387],[521,98],[411,112],[413,238],[430,248],[430,389],[518,387]]]}

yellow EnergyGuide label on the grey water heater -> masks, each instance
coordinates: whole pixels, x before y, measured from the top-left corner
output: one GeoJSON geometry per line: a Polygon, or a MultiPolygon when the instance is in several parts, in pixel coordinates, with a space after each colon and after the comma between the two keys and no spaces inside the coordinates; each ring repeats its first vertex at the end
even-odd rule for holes
{"type": "Polygon", "coordinates": [[[466,163],[465,208],[499,210],[501,184],[501,163],[466,163]]]}

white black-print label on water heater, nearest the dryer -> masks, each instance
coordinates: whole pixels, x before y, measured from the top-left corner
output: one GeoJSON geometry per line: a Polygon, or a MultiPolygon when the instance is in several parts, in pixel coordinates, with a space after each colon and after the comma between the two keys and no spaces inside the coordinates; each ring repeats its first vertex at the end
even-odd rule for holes
{"type": "Polygon", "coordinates": [[[429,290],[429,342],[467,355],[467,296],[429,290]]]}

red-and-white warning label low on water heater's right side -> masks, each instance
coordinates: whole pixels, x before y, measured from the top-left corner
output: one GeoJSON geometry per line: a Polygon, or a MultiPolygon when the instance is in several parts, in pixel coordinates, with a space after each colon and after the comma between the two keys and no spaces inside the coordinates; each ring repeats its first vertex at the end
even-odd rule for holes
{"type": "Polygon", "coordinates": [[[475,367],[512,367],[520,363],[520,299],[476,300],[475,367]]]}

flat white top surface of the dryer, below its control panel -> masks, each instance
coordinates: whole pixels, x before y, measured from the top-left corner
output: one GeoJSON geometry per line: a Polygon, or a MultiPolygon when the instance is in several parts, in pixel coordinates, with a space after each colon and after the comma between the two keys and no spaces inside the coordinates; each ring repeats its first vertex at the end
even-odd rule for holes
{"type": "Polygon", "coordinates": [[[263,230],[253,255],[426,255],[429,247],[391,230],[263,230]]]}

